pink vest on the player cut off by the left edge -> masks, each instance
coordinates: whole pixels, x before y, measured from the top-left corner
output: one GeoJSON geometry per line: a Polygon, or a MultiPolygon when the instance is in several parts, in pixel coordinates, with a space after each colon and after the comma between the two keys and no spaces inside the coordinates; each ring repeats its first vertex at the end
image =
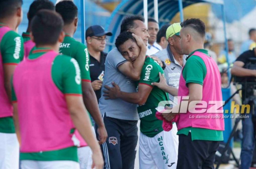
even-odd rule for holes
{"type": "MultiPolygon", "coordinates": [[[[3,36],[10,30],[11,29],[6,26],[0,28],[0,42],[2,41],[3,36]]],[[[4,87],[4,67],[2,60],[3,58],[0,51],[0,118],[13,116],[12,103],[10,102],[4,87]]]]}

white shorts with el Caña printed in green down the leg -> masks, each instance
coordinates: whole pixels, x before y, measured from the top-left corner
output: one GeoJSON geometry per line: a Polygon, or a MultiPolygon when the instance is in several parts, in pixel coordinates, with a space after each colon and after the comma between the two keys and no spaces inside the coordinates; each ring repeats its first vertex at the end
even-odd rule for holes
{"type": "Polygon", "coordinates": [[[177,126],[169,132],[162,131],[154,137],[140,134],[140,169],[175,169],[178,160],[177,126]]]}

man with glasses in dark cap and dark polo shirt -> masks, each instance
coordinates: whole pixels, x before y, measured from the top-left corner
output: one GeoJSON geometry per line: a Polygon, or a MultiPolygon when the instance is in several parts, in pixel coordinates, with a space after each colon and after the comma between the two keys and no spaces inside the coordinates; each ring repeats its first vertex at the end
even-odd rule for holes
{"type": "Polygon", "coordinates": [[[106,32],[100,25],[92,25],[86,30],[87,49],[90,55],[90,77],[92,88],[99,102],[101,87],[105,71],[107,53],[103,52],[111,32],[106,32]]]}

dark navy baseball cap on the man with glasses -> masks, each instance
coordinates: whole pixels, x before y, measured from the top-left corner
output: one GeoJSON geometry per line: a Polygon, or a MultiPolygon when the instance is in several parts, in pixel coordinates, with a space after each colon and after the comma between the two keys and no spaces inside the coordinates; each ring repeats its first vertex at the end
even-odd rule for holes
{"type": "Polygon", "coordinates": [[[85,32],[85,38],[88,36],[112,36],[111,32],[106,32],[105,29],[101,25],[92,25],[89,28],[87,28],[85,32]]]}

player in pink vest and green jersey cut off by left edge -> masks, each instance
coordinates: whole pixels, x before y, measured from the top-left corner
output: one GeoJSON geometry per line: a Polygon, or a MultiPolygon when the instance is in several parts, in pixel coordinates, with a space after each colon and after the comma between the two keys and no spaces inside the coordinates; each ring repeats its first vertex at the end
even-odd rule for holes
{"type": "Polygon", "coordinates": [[[22,0],[0,1],[0,168],[18,169],[19,144],[11,103],[11,77],[23,60],[23,39],[15,30],[22,21],[22,0]]]}

